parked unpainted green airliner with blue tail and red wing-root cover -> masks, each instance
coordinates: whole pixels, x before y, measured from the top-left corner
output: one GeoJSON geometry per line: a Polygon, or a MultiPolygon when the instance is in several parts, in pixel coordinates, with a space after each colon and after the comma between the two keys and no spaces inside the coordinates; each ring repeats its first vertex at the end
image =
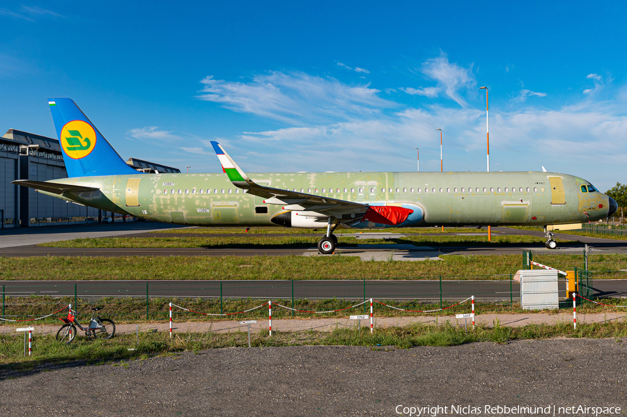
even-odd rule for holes
{"type": "Polygon", "coordinates": [[[421,226],[546,226],[596,221],[617,203],[573,175],[490,173],[254,173],[217,142],[224,173],[139,173],[111,148],[75,102],[49,99],[68,177],[17,180],[42,194],[101,210],[190,226],[326,228],[320,253],[333,253],[334,230],[421,226]]]}

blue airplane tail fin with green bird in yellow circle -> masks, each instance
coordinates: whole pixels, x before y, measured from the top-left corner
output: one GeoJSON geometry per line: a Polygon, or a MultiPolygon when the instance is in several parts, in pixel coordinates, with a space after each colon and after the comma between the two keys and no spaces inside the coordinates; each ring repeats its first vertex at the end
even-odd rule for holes
{"type": "Polygon", "coordinates": [[[139,174],[111,148],[74,101],[49,98],[48,104],[68,177],[139,174]]]}

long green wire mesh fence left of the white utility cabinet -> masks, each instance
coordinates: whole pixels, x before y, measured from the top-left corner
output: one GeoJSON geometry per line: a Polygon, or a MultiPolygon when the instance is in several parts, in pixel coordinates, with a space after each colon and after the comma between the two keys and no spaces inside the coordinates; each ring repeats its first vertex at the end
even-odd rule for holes
{"type": "MultiPolygon", "coordinates": [[[[450,277],[448,277],[450,278],[450,277]]],[[[396,305],[428,304],[440,308],[474,295],[478,303],[520,304],[520,283],[513,275],[479,276],[474,280],[284,280],[284,281],[61,281],[6,282],[1,286],[0,317],[39,317],[59,306],[72,304],[81,313],[91,306],[107,305],[104,316],[146,320],[167,315],[169,301],[187,302],[199,308],[226,313],[238,306],[282,300],[292,307],[309,303],[350,305],[374,298],[396,305]]],[[[591,285],[590,285],[591,288],[591,285]]],[[[568,301],[566,281],[558,283],[559,299],[568,301]]],[[[564,304],[564,307],[567,307],[564,304]]],[[[243,308],[242,308],[243,309],[243,308]]]]}

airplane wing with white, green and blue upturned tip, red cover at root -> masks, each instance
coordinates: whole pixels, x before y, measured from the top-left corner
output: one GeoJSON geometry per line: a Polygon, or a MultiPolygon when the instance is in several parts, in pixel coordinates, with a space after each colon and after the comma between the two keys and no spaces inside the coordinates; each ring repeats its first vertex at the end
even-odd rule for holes
{"type": "Polygon", "coordinates": [[[403,207],[373,206],[316,194],[264,187],[251,180],[219,143],[211,141],[211,144],[222,164],[222,171],[229,176],[233,185],[244,189],[248,194],[265,198],[266,204],[281,205],[284,210],[310,212],[312,216],[317,217],[335,217],[349,226],[366,220],[396,225],[405,221],[413,212],[403,207]]]}

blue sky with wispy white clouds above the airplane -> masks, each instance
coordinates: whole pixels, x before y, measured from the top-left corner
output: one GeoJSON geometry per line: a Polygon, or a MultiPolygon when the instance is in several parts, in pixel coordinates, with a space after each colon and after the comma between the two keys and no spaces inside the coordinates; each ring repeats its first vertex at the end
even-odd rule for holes
{"type": "Polygon", "coordinates": [[[70,97],[127,159],[627,182],[627,3],[0,2],[0,129],[70,97]]]}

